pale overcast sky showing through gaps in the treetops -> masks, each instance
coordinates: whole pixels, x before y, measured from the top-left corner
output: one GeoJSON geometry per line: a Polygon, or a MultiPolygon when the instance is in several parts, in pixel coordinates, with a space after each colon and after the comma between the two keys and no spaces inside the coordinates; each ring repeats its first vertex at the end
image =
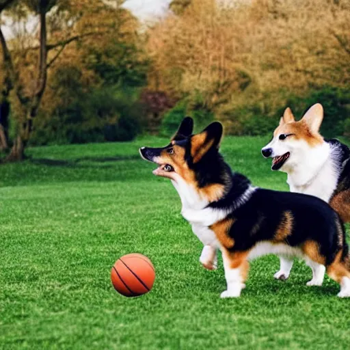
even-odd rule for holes
{"type": "MultiPolygon", "coordinates": [[[[126,0],[124,7],[128,8],[141,21],[156,21],[169,8],[172,0],[126,0]]],[[[27,29],[31,31],[38,25],[38,18],[30,18],[27,22],[27,29]]],[[[11,27],[11,21],[5,21],[5,25],[1,26],[5,38],[10,38],[14,35],[14,28],[11,27]]]]}

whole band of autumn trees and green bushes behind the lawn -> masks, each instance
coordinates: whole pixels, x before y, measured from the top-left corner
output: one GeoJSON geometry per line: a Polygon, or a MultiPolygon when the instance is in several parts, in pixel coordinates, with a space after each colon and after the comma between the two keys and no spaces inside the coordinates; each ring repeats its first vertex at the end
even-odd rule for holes
{"type": "Polygon", "coordinates": [[[349,0],[173,0],[148,27],[123,3],[0,0],[2,150],[165,135],[187,113],[261,135],[316,102],[349,135],[349,0]]]}

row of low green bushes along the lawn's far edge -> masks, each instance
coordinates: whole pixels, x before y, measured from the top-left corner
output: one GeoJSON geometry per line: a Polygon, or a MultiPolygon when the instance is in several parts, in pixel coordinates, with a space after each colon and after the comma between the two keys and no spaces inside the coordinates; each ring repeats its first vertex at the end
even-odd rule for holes
{"type": "MultiPolygon", "coordinates": [[[[137,102],[137,90],[103,88],[77,94],[66,106],[55,109],[52,116],[38,116],[30,143],[71,144],[84,142],[128,141],[144,126],[144,111],[137,102]]],[[[335,87],[310,90],[304,96],[281,98],[280,107],[272,107],[271,96],[259,101],[226,109],[217,114],[228,135],[271,135],[286,107],[291,107],[297,120],[314,103],[321,103],[325,118],[321,133],[325,137],[350,136],[350,92],[335,87]]],[[[214,120],[199,94],[180,100],[163,116],[159,135],[171,137],[181,120],[191,116],[195,132],[214,120]]]]}

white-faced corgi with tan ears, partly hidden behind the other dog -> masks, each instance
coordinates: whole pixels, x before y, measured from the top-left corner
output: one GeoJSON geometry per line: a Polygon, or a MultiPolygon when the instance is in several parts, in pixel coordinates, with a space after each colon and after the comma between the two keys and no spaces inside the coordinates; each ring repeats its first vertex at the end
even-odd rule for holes
{"type": "MultiPolygon", "coordinates": [[[[350,221],[350,150],[336,139],[325,140],[319,133],[323,107],[313,105],[295,121],[291,109],[284,111],[271,142],[262,148],[265,158],[273,158],[272,170],[288,174],[291,192],[306,193],[329,202],[342,221],[350,221]]],[[[275,278],[288,278],[293,262],[281,257],[275,278]]]]}

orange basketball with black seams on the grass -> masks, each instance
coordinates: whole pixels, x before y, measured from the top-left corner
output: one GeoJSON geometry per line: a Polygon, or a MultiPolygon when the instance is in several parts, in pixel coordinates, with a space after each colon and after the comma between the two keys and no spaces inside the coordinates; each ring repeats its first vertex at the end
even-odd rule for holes
{"type": "Polygon", "coordinates": [[[152,262],[142,254],[126,254],[111,269],[112,284],[125,297],[138,297],[148,293],[155,278],[152,262]]]}

